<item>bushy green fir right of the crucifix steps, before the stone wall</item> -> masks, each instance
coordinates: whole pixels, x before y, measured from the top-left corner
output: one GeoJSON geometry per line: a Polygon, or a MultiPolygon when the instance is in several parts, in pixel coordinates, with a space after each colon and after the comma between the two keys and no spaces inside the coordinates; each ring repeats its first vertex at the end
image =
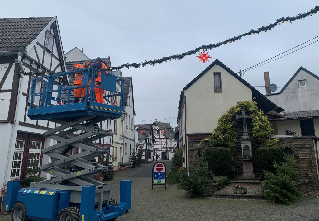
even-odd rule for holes
{"type": "Polygon", "coordinates": [[[293,182],[300,180],[297,161],[294,157],[284,157],[284,162],[274,162],[275,173],[264,170],[263,196],[273,203],[292,204],[302,197],[293,182]]]}

